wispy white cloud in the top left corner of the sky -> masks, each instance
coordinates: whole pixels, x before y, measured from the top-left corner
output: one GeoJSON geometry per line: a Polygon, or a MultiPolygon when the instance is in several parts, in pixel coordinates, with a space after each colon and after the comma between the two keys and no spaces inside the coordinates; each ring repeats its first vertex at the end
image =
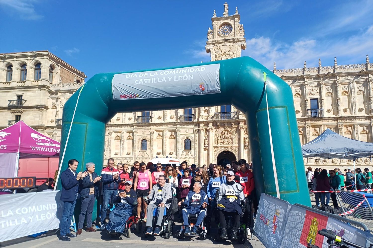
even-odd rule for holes
{"type": "Polygon", "coordinates": [[[21,19],[38,20],[43,18],[35,11],[33,2],[35,0],[0,0],[0,6],[5,9],[7,13],[15,13],[21,19]]]}

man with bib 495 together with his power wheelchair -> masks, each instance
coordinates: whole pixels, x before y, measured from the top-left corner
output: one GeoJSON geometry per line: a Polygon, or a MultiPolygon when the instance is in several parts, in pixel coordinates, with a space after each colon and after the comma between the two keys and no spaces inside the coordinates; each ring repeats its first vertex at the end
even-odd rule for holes
{"type": "Polygon", "coordinates": [[[179,207],[183,207],[182,216],[184,225],[182,226],[178,237],[183,236],[183,229],[185,229],[184,235],[197,235],[197,228],[200,229],[200,239],[206,238],[206,226],[201,225],[206,215],[206,207],[209,203],[207,194],[201,190],[202,184],[195,182],[193,185],[193,191],[189,191],[184,202],[179,202],[179,207]],[[189,222],[194,221],[194,223],[189,222]]]}

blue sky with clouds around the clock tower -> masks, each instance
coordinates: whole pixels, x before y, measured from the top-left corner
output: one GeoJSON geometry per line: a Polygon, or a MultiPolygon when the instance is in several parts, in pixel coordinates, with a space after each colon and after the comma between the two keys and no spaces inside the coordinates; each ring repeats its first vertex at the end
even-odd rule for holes
{"type": "MultiPolygon", "coordinates": [[[[210,61],[207,30],[224,1],[0,0],[0,53],[49,50],[84,71],[210,61]]],[[[272,69],[373,61],[373,1],[228,1],[250,56],[272,69]]]]}

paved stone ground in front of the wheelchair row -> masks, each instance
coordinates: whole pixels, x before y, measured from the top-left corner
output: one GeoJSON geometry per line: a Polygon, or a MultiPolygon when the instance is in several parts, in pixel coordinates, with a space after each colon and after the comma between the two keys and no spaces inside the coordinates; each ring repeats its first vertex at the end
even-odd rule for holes
{"type": "MultiPolygon", "coordinates": [[[[144,228],[144,227],[143,227],[144,228]]],[[[60,241],[54,231],[47,233],[47,236],[40,238],[19,238],[11,241],[6,241],[0,244],[1,247],[7,248],[38,248],[38,247],[53,247],[53,248],[88,248],[88,247],[103,247],[103,248],[195,248],[195,247],[210,247],[210,248],[262,248],[264,247],[256,237],[253,240],[247,240],[245,244],[240,245],[237,241],[214,241],[217,230],[211,229],[210,234],[204,241],[199,240],[196,237],[185,237],[184,239],[176,238],[176,232],[180,229],[180,223],[175,223],[174,235],[169,239],[165,239],[161,236],[149,237],[145,239],[143,233],[131,233],[130,238],[125,236],[116,236],[115,238],[110,238],[105,232],[97,231],[94,233],[85,232],[83,230],[82,234],[76,238],[71,238],[71,241],[60,241]]],[[[72,232],[73,233],[73,232],[72,232]]],[[[250,236],[248,237],[250,238],[250,236]]]]}

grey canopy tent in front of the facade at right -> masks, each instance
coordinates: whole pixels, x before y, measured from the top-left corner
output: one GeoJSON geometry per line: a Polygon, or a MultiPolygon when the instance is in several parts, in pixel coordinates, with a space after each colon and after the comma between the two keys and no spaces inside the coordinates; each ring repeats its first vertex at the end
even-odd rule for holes
{"type": "MultiPolygon", "coordinates": [[[[305,158],[342,158],[354,161],[357,158],[372,158],[373,144],[341,136],[327,128],[313,141],[302,146],[305,158]]],[[[356,177],[355,177],[356,185],[356,177]]]]}

